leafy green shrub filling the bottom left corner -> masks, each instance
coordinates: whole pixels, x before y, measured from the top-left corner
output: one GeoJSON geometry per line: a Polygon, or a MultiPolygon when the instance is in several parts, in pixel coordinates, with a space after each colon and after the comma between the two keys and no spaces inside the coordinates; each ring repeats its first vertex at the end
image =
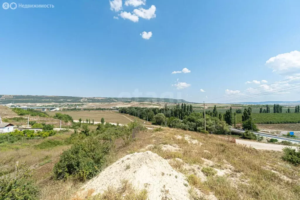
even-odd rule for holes
{"type": "Polygon", "coordinates": [[[0,199],[38,199],[38,188],[31,176],[32,172],[24,167],[15,175],[4,176],[0,179],[0,199]]]}

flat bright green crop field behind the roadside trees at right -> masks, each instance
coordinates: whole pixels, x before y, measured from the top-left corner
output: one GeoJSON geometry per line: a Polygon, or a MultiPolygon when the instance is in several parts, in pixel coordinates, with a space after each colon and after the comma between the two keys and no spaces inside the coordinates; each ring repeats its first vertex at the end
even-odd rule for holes
{"type": "MultiPolygon", "coordinates": [[[[236,123],[242,123],[242,115],[236,115],[236,123]]],[[[300,123],[300,113],[252,113],[256,124],[295,124],[300,123]]]]}

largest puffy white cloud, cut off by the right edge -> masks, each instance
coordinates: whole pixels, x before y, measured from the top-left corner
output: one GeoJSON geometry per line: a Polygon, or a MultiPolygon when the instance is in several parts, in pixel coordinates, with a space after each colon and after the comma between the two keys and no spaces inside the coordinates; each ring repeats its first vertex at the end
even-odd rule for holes
{"type": "Polygon", "coordinates": [[[300,70],[300,52],[291,51],[289,53],[278,54],[268,59],[265,65],[279,74],[294,74],[300,70]]]}

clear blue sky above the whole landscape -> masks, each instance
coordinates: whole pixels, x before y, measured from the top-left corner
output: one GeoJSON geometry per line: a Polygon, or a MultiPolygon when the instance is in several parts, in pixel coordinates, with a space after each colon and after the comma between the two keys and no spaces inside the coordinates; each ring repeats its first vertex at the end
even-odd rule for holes
{"type": "Polygon", "coordinates": [[[0,94],[300,100],[300,1],[126,1],[1,8],[0,94]]]}

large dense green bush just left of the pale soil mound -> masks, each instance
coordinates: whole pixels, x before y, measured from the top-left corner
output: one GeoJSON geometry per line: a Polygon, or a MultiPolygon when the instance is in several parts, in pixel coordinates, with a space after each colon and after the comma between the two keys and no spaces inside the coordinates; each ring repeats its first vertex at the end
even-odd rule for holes
{"type": "Polygon", "coordinates": [[[110,143],[100,141],[95,137],[87,137],[84,141],[72,145],[64,151],[58,163],[53,168],[54,179],[76,178],[85,181],[104,167],[110,143]]]}

